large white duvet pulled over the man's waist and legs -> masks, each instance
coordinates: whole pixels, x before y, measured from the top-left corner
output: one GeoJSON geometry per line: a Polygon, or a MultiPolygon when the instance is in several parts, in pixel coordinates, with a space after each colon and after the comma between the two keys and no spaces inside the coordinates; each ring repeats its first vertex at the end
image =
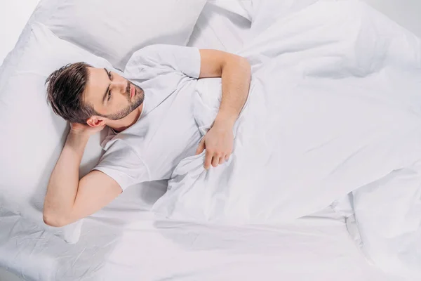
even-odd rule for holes
{"type": "MultiPolygon", "coordinates": [[[[204,152],[182,160],[154,205],[157,214],[289,221],[421,159],[419,39],[360,1],[253,1],[252,14],[239,52],[252,64],[252,81],[234,128],[234,152],[208,171],[204,152]]],[[[195,117],[203,133],[218,112],[218,89],[220,79],[199,80],[195,117]]],[[[408,196],[418,196],[411,204],[420,201],[419,186],[412,186],[395,205],[408,204],[399,201],[408,196]]],[[[385,233],[364,228],[377,219],[368,213],[356,212],[361,237],[379,241],[385,233]]],[[[420,213],[411,214],[416,231],[420,213]]],[[[396,219],[406,224],[404,213],[396,219]]],[[[366,253],[375,259],[385,248],[373,249],[366,253]]],[[[419,253],[410,256],[415,261],[405,266],[420,264],[419,253]]]]}

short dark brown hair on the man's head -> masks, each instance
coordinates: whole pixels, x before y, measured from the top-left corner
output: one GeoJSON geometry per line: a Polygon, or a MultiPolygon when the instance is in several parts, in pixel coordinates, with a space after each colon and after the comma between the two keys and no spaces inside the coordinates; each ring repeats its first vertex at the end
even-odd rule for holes
{"type": "Polygon", "coordinates": [[[83,102],[83,93],[88,83],[87,63],[69,63],[51,73],[46,79],[47,102],[56,115],[69,122],[86,124],[86,119],[95,115],[92,105],[83,102]]]}

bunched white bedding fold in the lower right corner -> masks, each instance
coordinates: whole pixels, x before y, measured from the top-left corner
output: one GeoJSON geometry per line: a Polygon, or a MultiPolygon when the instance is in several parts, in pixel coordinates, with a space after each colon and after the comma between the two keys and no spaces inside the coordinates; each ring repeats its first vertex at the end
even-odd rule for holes
{"type": "Polygon", "coordinates": [[[363,252],[387,273],[421,280],[421,162],[352,192],[363,252]]]}

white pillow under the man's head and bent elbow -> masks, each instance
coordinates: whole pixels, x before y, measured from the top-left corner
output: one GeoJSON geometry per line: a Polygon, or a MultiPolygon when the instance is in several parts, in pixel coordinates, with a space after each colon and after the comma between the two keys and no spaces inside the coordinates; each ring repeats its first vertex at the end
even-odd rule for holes
{"type": "MultiPolygon", "coordinates": [[[[81,221],[53,228],[42,220],[46,186],[69,129],[46,102],[44,83],[54,70],[79,61],[113,70],[107,60],[34,22],[25,27],[0,70],[0,205],[67,242],[77,242],[81,221]]],[[[97,164],[101,151],[97,134],[83,155],[81,176],[97,164]]]]}

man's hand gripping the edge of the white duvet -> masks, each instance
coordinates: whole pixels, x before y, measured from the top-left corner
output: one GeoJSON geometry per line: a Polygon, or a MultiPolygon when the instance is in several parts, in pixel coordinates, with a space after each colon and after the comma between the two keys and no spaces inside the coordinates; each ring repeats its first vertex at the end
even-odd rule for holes
{"type": "Polygon", "coordinates": [[[205,169],[210,168],[210,164],[216,167],[229,159],[232,153],[234,134],[232,126],[215,124],[205,136],[203,136],[196,155],[201,154],[206,149],[205,169]]]}

